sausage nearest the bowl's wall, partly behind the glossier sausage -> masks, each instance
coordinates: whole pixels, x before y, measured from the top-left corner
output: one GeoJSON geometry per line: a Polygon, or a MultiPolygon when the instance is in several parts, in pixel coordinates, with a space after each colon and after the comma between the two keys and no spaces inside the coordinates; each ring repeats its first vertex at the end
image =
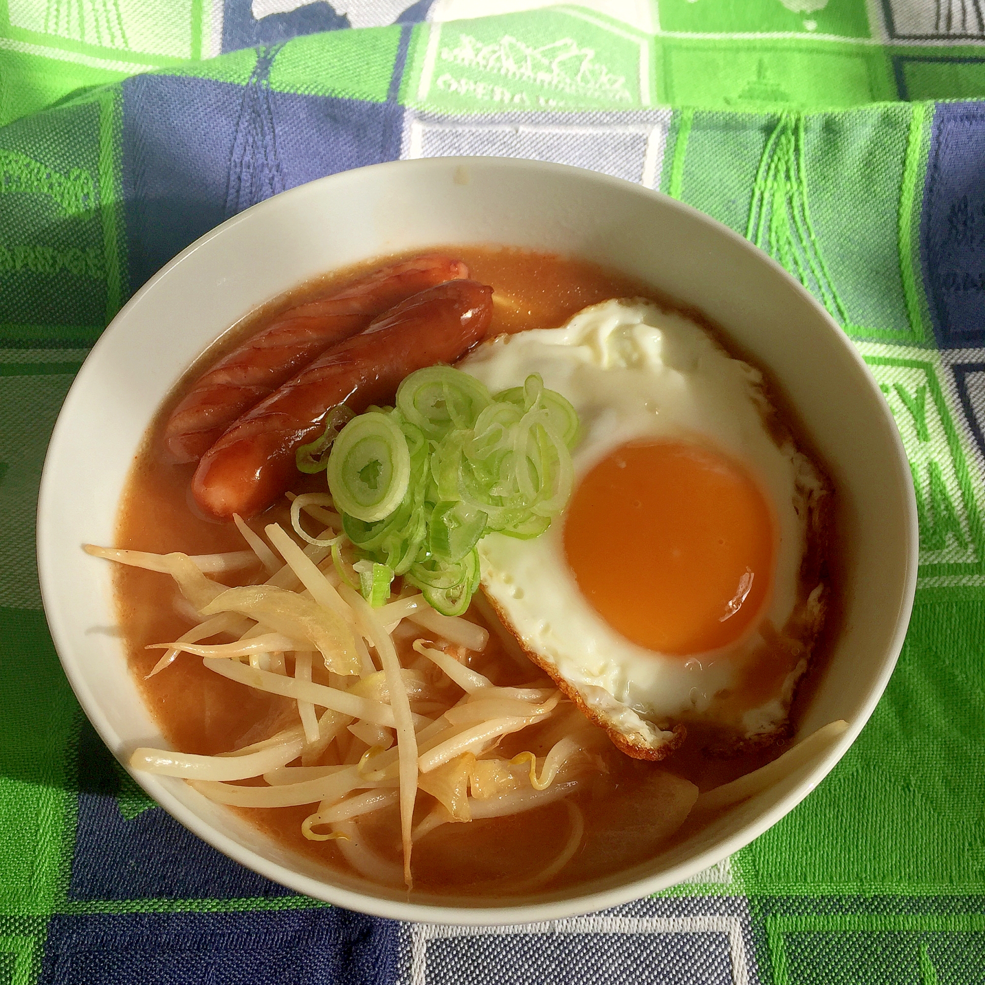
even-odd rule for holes
{"type": "Polygon", "coordinates": [[[394,304],[468,276],[460,260],[428,254],[375,270],[338,294],[279,315],[208,369],[171,412],[164,427],[164,447],[171,460],[201,458],[242,414],[394,304]]]}

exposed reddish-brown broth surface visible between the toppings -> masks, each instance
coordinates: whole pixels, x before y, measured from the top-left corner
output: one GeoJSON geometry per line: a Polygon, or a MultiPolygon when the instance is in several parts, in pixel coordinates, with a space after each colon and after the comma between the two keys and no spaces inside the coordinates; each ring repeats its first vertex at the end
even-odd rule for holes
{"type": "MultiPolygon", "coordinates": [[[[670,306],[645,284],[581,260],[491,247],[456,247],[448,252],[469,265],[475,280],[492,285],[495,296],[506,299],[494,304],[493,334],[556,328],[581,308],[610,297],[643,296],[670,306]]],[[[233,524],[204,519],[190,504],[188,490],[195,466],[168,463],[162,442],[168,413],[204,368],[279,312],[324,296],[380,262],[319,278],[276,298],[233,326],[189,369],[164,402],[134,463],[120,508],[118,547],[188,555],[243,550],[245,545],[233,524]]],[[[688,314],[695,317],[694,312],[688,314]]],[[[324,491],[324,474],[298,473],[293,488],[296,493],[324,491]]],[[[288,514],[285,501],[251,521],[251,526],[262,533],[265,524],[277,521],[290,530],[288,514]]],[[[230,585],[244,583],[254,573],[246,571],[239,581],[231,575],[224,580],[230,585]]],[[[173,604],[177,591],[167,575],[120,567],[116,590],[131,671],[166,740],[175,749],[216,755],[296,723],[295,701],[233,683],[206,670],[200,658],[189,654],[179,655],[163,673],[147,679],[162,651],[145,647],[176,639],[189,622],[173,604]]],[[[475,606],[467,618],[484,623],[475,606]]],[[[406,657],[413,638],[407,637],[402,657],[406,657]]],[[[819,652],[815,666],[820,663],[819,652]]],[[[519,686],[543,677],[533,665],[524,667],[509,655],[494,628],[488,648],[471,658],[471,666],[495,685],[519,686]]],[[[527,744],[507,736],[500,749],[510,755],[527,744]]],[[[603,754],[605,771],[572,795],[584,815],[581,847],[557,876],[540,887],[558,889],[612,875],[666,847],[659,814],[655,816],[653,811],[654,792],[666,772],[684,776],[703,790],[757,768],[784,749],[781,741],[738,755],[712,752],[720,745],[708,730],[689,727],[684,747],[662,762],[633,759],[610,747],[603,754]]],[[[338,754],[330,750],[329,755],[338,754]]],[[[424,817],[433,804],[428,796],[419,796],[416,819],[424,817]]],[[[328,869],[352,874],[335,842],[310,841],[302,836],[301,821],[312,812],[311,806],[237,810],[282,844],[328,869]]],[[[519,891],[531,874],[558,854],[568,835],[566,818],[564,803],[556,802],[508,818],[445,824],[415,844],[415,892],[460,895],[490,890],[508,894],[511,888],[519,891]]],[[[397,807],[364,817],[361,828],[379,854],[395,865],[401,864],[397,807]]]]}

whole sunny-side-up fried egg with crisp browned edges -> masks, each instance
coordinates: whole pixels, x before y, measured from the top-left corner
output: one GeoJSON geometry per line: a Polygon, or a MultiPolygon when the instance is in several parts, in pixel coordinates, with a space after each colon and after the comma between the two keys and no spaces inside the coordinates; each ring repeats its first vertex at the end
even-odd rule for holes
{"type": "Polygon", "coordinates": [[[580,421],[564,514],[479,544],[527,655],[630,755],[667,755],[689,722],[740,745],[782,731],[821,624],[805,558],[826,487],[758,370],[641,299],[500,336],[460,368],[493,393],[540,373],[580,421]]]}

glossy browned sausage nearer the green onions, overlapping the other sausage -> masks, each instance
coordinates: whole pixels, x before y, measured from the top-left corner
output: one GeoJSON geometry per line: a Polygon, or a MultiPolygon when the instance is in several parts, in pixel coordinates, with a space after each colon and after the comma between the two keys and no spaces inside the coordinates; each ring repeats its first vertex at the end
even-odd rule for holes
{"type": "Polygon", "coordinates": [[[230,427],[198,464],[196,502],[221,519],[255,516],[288,490],[297,447],[321,433],[329,409],[345,403],[361,413],[392,403],[405,376],[460,359],[486,338],[492,320],[493,289],[475,281],[451,281],[401,302],[230,427]]]}

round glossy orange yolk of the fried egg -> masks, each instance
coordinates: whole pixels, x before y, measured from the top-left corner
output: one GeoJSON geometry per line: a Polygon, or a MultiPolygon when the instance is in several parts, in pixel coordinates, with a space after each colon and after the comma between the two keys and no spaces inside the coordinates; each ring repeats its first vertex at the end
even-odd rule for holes
{"type": "Polygon", "coordinates": [[[567,561],[599,615],[640,646],[682,656],[752,624],[776,539],[742,463],[675,441],[616,449],[578,484],[564,521],[567,561]]]}

